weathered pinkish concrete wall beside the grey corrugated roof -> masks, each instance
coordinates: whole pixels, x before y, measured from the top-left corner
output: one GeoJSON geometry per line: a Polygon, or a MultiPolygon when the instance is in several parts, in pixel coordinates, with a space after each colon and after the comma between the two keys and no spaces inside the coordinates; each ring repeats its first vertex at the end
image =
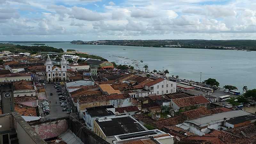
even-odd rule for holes
{"type": "Polygon", "coordinates": [[[66,132],[68,130],[68,120],[67,118],[53,119],[51,121],[48,120],[46,123],[32,124],[31,127],[42,139],[49,139],[66,132]]]}

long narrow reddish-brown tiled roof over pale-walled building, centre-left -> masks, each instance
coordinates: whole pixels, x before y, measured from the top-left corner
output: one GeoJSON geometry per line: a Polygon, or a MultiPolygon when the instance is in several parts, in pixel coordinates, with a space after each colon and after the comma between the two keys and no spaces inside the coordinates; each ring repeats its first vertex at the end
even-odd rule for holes
{"type": "Polygon", "coordinates": [[[105,101],[105,100],[118,100],[118,99],[127,99],[131,98],[130,95],[120,93],[113,95],[87,95],[79,98],[79,103],[87,102],[96,102],[96,101],[105,101]]]}

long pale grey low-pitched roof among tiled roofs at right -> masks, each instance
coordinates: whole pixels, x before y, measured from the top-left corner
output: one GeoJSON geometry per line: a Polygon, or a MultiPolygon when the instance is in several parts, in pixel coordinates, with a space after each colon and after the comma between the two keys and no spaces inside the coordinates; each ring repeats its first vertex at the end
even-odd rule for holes
{"type": "Polygon", "coordinates": [[[196,118],[196,119],[185,121],[185,122],[193,123],[200,127],[204,127],[204,126],[207,126],[210,124],[214,124],[216,122],[222,122],[224,120],[224,118],[245,116],[245,115],[250,115],[250,114],[251,113],[245,112],[243,110],[233,110],[233,111],[214,114],[211,116],[204,116],[204,117],[196,118]]]}

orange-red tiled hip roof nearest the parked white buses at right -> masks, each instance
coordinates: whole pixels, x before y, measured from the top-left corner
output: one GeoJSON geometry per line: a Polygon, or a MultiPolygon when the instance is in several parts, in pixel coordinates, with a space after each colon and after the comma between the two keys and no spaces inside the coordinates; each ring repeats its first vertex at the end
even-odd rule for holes
{"type": "Polygon", "coordinates": [[[172,100],[178,107],[188,107],[193,105],[205,104],[210,103],[204,96],[194,96],[194,97],[187,97],[187,98],[180,98],[172,100]]]}

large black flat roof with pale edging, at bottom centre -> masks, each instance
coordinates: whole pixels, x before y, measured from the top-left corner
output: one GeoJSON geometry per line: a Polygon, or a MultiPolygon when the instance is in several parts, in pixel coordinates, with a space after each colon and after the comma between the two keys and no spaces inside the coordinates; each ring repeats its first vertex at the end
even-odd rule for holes
{"type": "Polygon", "coordinates": [[[132,119],[130,116],[110,117],[95,121],[99,124],[106,137],[146,131],[138,121],[132,119]]]}

